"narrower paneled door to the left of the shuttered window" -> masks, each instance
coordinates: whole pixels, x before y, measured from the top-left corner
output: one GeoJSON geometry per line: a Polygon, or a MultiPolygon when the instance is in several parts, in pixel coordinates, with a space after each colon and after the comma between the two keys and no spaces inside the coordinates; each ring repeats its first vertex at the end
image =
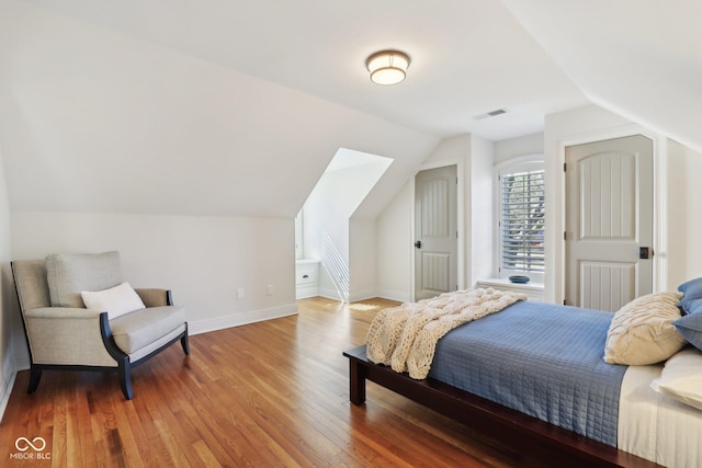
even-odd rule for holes
{"type": "Polygon", "coordinates": [[[415,179],[415,300],[457,288],[456,167],[415,179]]]}

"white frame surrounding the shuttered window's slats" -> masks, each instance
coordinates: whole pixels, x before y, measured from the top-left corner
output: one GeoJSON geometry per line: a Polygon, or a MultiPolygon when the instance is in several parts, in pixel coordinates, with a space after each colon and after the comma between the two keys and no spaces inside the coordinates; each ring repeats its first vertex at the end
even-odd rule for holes
{"type": "MultiPolygon", "coordinates": [[[[529,276],[531,282],[533,283],[543,283],[544,282],[544,272],[532,272],[532,271],[523,271],[523,270],[512,270],[505,269],[502,266],[502,247],[503,247],[503,238],[502,238],[502,176],[506,174],[512,174],[516,172],[522,171],[535,171],[541,170],[544,171],[545,178],[545,161],[544,155],[529,155],[518,158],[512,158],[508,161],[505,161],[495,167],[495,178],[494,178],[494,187],[495,187],[495,252],[494,252],[494,265],[495,265],[495,277],[498,278],[507,278],[511,275],[520,275],[520,276],[529,276]]],[[[545,180],[544,180],[544,195],[545,195],[545,180]]],[[[544,254],[545,254],[545,246],[544,246],[544,254]]],[[[545,269],[545,262],[544,262],[545,269]]]]}

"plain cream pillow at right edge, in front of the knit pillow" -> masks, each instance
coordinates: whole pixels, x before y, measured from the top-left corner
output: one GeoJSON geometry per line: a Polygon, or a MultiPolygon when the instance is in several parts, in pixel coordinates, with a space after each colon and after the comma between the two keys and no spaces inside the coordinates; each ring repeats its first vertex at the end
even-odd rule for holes
{"type": "Polygon", "coordinates": [[[690,347],[670,357],[650,388],[702,410],[702,352],[690,347]]]}

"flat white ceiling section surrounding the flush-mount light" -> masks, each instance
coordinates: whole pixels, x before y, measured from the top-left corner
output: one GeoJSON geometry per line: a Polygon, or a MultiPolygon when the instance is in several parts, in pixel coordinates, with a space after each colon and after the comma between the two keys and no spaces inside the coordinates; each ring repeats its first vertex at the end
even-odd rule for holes
{"type": "Polygon", "coordinates": [[[533,134],[587,103],[495,0],[31,2],[442,137],[533,134]],[[384,48],[411,57],[399,85],[369,79],[365,59],[384,48]],[[496,109],[509,113],[475,118],[496,109]]]}

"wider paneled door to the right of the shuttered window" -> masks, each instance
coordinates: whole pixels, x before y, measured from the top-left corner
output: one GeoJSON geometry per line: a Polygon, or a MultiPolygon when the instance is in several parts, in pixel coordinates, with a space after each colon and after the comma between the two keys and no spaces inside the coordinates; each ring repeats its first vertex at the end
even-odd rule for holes
{"type": "Polygon", "coordinates": [[[653,290],[653,141],[566,148],[566,304],[615,311],[653,290]]]}

